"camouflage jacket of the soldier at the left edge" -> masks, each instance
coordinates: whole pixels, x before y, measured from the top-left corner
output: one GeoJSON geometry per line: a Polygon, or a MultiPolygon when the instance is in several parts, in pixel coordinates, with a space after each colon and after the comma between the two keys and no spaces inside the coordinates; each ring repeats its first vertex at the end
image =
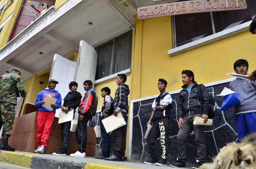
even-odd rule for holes
{"type": "Polygon", "coordinates": [[[0,102],[17,104],[16,97],[25,95],[25,87],[20,76],[15,73],[6,73],[0,77],[0,102]]]}

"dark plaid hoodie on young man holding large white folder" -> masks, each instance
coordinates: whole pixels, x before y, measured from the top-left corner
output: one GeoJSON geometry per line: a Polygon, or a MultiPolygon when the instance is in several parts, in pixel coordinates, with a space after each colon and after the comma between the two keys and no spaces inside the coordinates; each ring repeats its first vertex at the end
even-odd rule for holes
{"type": "Polygon", "coordinates": [[[114,110],[121,112],[128,112],[128,95],[130,93],[129,86],[122,83],[117,87],[116,93],[114,94],[114,110]]]}

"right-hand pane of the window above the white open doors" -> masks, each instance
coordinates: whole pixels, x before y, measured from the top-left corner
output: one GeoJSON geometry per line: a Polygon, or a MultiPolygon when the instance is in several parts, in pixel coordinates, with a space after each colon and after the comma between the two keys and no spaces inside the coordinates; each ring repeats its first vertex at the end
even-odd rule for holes
{"type": "Polygon", "coordinates": [[[117,73],[131,67],[132,31],[114,39],[114,55],[112,73],[117,73]]]}

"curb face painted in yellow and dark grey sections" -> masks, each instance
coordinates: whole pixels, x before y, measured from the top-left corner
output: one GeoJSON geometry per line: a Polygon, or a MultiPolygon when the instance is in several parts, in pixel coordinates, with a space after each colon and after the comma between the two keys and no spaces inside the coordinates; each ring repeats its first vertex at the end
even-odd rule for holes
{"type": "Polygon", "coordinates": [[[118,166],[105,163],[75,163],[68,160],[56,160],[48,157],[42,157],[25,154],[20,152],[0,151],[0,161],[5,163],[23,166],[27,168],[36,169],[49,169],[49,168],[62,168],[62,169],[127,169],[134,167],[118,166]]]}

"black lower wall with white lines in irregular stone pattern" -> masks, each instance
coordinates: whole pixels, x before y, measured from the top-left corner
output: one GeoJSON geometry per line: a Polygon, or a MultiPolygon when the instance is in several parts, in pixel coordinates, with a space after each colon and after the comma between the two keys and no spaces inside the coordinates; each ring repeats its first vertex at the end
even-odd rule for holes
{"type": "MultiPolygon", "coordinates": [[[[219,84],[207,87],[210,94],[213,94],[215,103],[215,117],[213,119],[212,126],[206,126],[205,138],[206,138],[206,154],[207,161],[211,161],[212,157],[218,154],[219,148],[224,147],[226,143],[236,141],[237,133],[234,126],[234,114],[233,108],[227,111],[221,111],[220,106],[223,102],[223,97],[216,96],[224,87],[228,87],[228,83],[219,84]]],[[[172,115],[170,118],[169,127],[169,139],[170,139],[170,153],[167,158],[167,163],[173,163],[177,158],[177,100],[178,93],[172,94],[172,115]]],[[[147,150],[147,143],[144,139],[144,135],[147,129],[146,123],[150,118],[152,111],[151,104],[154,99],[144,100],[142,102],[136,102],[133,104],[133,130],[132,130],[132,161],[147,160],[149,151],[147,150]]],[[[158,157],[160,157],[160,140],[156,141],[156,150],[158,157]]],[[[186,160],[188,166],[193,164],[196,156],[196,144],[194,143],[194,134],[190,133],[187,139],[187,154],[186,160]]]]}

